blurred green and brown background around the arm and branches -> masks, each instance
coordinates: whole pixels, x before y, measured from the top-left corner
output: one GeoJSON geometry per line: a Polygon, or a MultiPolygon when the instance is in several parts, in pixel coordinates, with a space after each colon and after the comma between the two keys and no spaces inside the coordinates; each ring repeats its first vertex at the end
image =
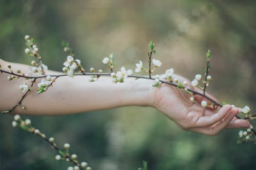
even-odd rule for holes
{"type": "MultiPolygon", "coordinates": [[[[1,0],[0,58],[30,64],[24,53],[29,34],[49,69],[62,68],[62,40],[70,42],[87,71],[107,70],[101,61],[111,53],[116,68],[135,69],[138,60],[146,62],[148,42],[154,40],[163,63],[157,73],[173,67],[192,80],[203,74],[210,48],[208,91],[221,102],[255,111],[255,16],[255,1],[1,0]]],[[[142,160],[151,170],[256,169],[256,145],[238,145],[239,130],[215,137],[185,132],[153,108],[24,117],[57,144],[70,143],[71,152],[93,169],[137,169],[142,160]]],[[[11,122],[12,116],[1,115],[1,170],[67,169],[45,141],[13,129],[11,122]]]]}

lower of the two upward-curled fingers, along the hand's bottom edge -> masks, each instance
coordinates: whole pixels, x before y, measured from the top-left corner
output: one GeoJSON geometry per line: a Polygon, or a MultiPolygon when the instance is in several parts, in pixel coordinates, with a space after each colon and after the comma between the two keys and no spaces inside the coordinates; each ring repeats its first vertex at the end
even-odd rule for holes
{"type": "Polygon", "coordinates": [[[190,130],[198,133],[206,134],[206,135],[211,135],[211,136],[216,135],[219,131],[225,128],[231,122],[233,117],[236,116],[238,113],[239,113],[239,109],[234,107],[231,110],[229,110],[227,115],[218,123],[210,127],[192,128],[190,130]]]}

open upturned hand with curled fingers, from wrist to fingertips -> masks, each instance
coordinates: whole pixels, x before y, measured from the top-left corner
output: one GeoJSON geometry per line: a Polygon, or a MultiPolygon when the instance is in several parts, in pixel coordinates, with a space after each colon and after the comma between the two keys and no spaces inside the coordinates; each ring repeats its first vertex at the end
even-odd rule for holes
{"type": "MultiPolygon", "coordinates": [[[[175,75],[179,82],[187,81],[185,78],[175,75]]],[[[200,89],[188,84],[190,89],[202,92],[200,89]]],[[[210,96],[209,94],[206,94],[210,96]]],[[[212,99],[212,96],[210,96],[212,99]]],[[[223,128],[249,128],[250,123],[244,119],[238,119],[237,107],[231,105],[223,106],[217,113],[215,109],[203,108],[199,104],[189,100],[190,95],[183,90],[168,84],[162,84],[155,92],[153,107],[163,112],[174,120],[182,129],[195,131],[206,135],[216,135],[223,128]]],[[[201,103],[204,99],[195,95],[195,101],[201,103]]],[[[207,101],[207,100],[206,100],[207,101]]]]}

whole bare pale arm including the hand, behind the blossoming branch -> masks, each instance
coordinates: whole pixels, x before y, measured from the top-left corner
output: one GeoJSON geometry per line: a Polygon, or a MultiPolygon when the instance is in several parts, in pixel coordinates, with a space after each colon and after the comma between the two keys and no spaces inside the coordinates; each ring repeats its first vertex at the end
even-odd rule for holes
{"type": "MultiPolygon", "coordinates": [[[[10,63],[0,59],[2,69],[20,69],[31,76],[31,66],[10,63]]],[[[60,75],[61,72],[48,70],[47,75],[60,75]]],[[[19,78],[8,81],[8,74],[0,74],[0,111],[13,107],[23,93],[19,85],[30,81],[19,78]]],[[[180,82],[185,78],[175,75],[180,82]]],[[[237,119],[237,107],[225,105],[218,111],[203,108],[197,103],[189,101],[190,95],[176,87],[162,84],[159,88],[152,87],[153,80],[127,78],[124,83],[114,84],[110,77],[101,76],[96,82],[89,82],[88,76],[59,77],[47,92],[36,93],[37,80],[33,90],[24,99],[22,105],[25,110],[16,107],[12,114],[29,115],[61,115],[104,110],[122,106],[150,106],[158,109],[172,119],[184,130],[195,131],[206,135],[216,135],[224,128],[249,128],[250,123],[244,119],[237,119]]],[[[188,80],[186,80],[189,82],[188,80]]],[[[190,84],[189,88],[198,90],[190,84]]],[[[209,94],[207,94],[209,95],[209,94]]],[[[210,95],[209,95],[210,96],[210,95]]],[[[214,99],[211,96],[212,99],[214,99]]],[[[195,100],[201,103],[202,96],[196,95],[195,100]]]]}

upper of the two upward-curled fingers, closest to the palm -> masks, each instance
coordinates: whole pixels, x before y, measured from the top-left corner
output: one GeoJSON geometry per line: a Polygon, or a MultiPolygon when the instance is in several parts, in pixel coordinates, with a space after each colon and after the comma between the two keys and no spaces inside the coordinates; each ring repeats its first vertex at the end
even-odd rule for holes
{"type": "Polygon", "coordinates": [[[197,122],[195,123],[194,127],[206,127],[214,125],[220,120],[222,120],[231,109],[232,107],[230,105],[225,105],[218,111],[218,113],[207,116],[201,116],[197,119],[197,122]]]}

